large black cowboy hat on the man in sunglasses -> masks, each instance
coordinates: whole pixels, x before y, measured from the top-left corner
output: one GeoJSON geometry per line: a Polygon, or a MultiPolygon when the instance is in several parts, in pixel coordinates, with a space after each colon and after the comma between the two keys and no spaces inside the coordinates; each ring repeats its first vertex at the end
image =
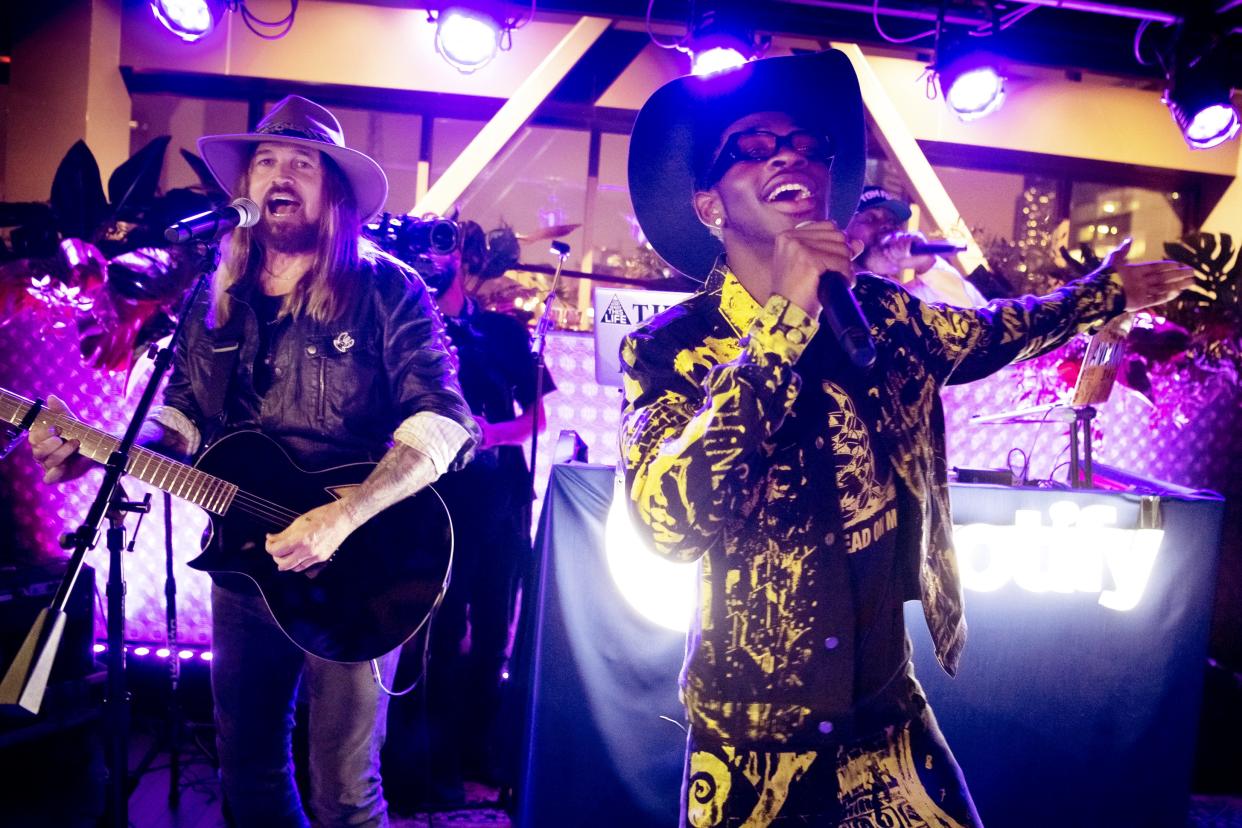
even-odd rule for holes
{"type": "Polygon", "coordinates": [[[647,99],[630,135],[630,197],[651,246],[682,273],[704,278],[723,250],[694,212],[696,179],[720,133],[754,112],[785,112],[832,139],[828,217],[840,227],[858,207],[866,161],[862,94],[850,58],[828,50],[770,57],[710,77],[669,81],[647,99]]]}

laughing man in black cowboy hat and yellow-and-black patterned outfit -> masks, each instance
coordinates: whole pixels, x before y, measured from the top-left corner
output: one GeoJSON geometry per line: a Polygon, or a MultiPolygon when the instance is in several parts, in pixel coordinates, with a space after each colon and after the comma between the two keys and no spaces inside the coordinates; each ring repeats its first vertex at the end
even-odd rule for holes
{"type": "Polygon", "coordinates": [[[821,283],[858,252],[858,83],[836,51],[658,89],[630,190],[648,240],[703,290],[622,345],[630,505],[657,552],[699,562],[682,672],[683,826],[975,826],[910,669],[922,600],[949,673],[965,643],[938,390],[1176,295],[1172,263],[1103,268],[965,310],[859,274],[854,367],[821,283]]]}

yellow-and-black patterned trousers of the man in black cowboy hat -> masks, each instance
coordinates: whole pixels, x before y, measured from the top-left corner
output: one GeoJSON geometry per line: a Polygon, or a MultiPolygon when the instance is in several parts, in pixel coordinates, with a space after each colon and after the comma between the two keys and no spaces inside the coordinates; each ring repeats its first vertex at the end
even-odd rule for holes
{"type": "Polygon", "coordinates": [[[982,828],[932,709],[920,706],[903,722],[797,749],[692,732],[682,828],[982,828]]]}

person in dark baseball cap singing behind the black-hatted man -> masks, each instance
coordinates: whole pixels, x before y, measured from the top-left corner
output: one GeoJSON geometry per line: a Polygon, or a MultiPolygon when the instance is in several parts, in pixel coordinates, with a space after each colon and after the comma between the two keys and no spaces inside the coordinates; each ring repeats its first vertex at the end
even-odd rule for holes
{"type": "Polygon", "coordinates": [[[910,207],[884,187],[866,186],[858,200],[858,211],[846,226],[846,236],[864,247],[854,259],[856,271],[884,276],[924,302],[943,302],[959,308],[981,308],[987,299],[944,257],[914,253],[910,246],[927,242],[923,233],[905,230],[910,207]],[[903,271],[914,277],[902,282],[903,271]]]}

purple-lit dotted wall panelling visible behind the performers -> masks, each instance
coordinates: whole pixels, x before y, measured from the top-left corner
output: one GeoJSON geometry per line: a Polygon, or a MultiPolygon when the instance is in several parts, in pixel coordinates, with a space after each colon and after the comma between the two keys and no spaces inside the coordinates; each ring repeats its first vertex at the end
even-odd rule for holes
{"type": "MultiPolygon", "coordinates": [[[[43,341],[34,325],[16,323],[0,329],[0,384],[31,396],[56,392],[87,422],[119,433],[132,410],[140,382],[133,382],[125,395],[123,377],[107,376],[83,367],[76,341],[70,338],[43,341]],[[53,379],[58,377],[58,379],[53,379]]],[[[556,333],[548,339],[548,367],[558,390],[546,398],[548,431],[539,444],[537,488],[543,500],[549,464],[563,428],[573,428],[590,447],[595,463],[617,461],[617,423],[620,390],[595,382],[595,353],[591,336],[556,333]]],[[[1067,436],[1058,423],[979,426],[969,420],[976,413],[994,413],[1016,405],[1017,389],[1025,381],[1020,369],[969,386],[945,391],[945,417],[950,466],[1001,468],[1013,447],[1030,452],[1035,444],[1032,477],[1047,477],[1053,464],[1066,461],[1067,436]]],[[[1242,454],[1238,396],[1222,395],[1182,428],[1170,425],[1153,427],[1145,405],[1126,389],[1117,389],[1113,398],[1100,407],[1097,457],[1119,468],[1190,487],[1227,490],[1236,487],[1231,464],[1242,454]]],[[[1064,468],[1057,472],[1064,479],[1064,468]]],[[[1236,475],[1235,475],[1236,477],[1236,475]]],[[[10,504],[19,526],[19,544],[40,556],[62,555],[56,535],[81,519],[89,505],[98,475],[63,488],[43,487],[25,448],[0,468],[0,494],[10,504]]],[[[140,497],[137,484],[130,494],[140,497]]],[[[164,551],[163,504],[156,493],[155,508],[148,516],[138,546],[127,557],[129,597],[128,634],[132,639],[164,639],[164,551]]],[[[206,520],[193,506],[174,506],[174,550],[178,572],[178,600],[183,641],[207,643],[210,639],[209,588],[206,576],[185,566],[199,550],[199,538],[206,520]]],[[[29,559],[27,559],[29,560],[29,559]]],[[[99,583],[107,575],[107,552],[97,549],[88,561],[99,570],[99,583]]]]}

